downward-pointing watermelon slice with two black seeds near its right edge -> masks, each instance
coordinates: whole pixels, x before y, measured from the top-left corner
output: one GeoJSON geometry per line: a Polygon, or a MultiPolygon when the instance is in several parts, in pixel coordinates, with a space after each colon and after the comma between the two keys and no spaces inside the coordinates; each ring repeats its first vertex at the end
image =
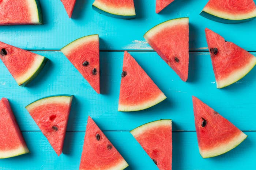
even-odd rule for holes
{"type": "Polygon", "coordinates": [[[61,48],[61,52],[89,82],[91,87],[100,93],[99,82],[99,35],[88,35],[76,39],[61,48]]]}

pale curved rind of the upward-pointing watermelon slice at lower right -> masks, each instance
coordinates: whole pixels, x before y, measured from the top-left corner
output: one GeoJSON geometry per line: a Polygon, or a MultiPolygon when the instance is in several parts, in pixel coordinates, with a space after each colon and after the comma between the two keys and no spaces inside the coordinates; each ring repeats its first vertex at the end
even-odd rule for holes
{"type": "Polygon", "coordinates": [[[228,143],[226,146],[222,146],[220,149],[216,149],[215,152],[211,152],[211,153],[207,153],[206,151],[206,154],[203,154],[203,152],[200,150],[199,148],[199,153],[200,155],[203,157],[203,158],[212,158],[212,157],[216,157],[216,156],[219,156],[219,155],[222,155],[222,154],[225,154],[227,153],[228,151],[236,148],[238,145],[240,145],[240,143],[242,143],[245,139],[247,138],[247,135],[244,134],[242,131],[241,131],[241,134],[240,134],[240,137],[234,137],[233,140],[230,140],[230,143],[233,142],[233,144],[231,143],[228,143]]]}

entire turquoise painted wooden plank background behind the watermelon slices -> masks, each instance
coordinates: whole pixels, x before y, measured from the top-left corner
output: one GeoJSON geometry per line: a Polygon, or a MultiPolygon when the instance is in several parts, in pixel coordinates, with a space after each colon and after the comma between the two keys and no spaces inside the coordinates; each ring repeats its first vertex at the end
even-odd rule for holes
{"type": "Polygon", "coordinates": [[[44,25],[0,27],[0,41],[50,59],[39,76],[26,87],[19,87],[0,62],[0,97],[10,100],[31,152],[1,159],[0,169],[78,169],[88,115],[127,160],[127,169],[157,169],[129,131],[158,119],[173,120],[173,170],[254,169],[256,69],[237,83],[217,89],[204,28],[220,33],[226,40],[233,41],[256,55],[256,20],[236,25],[207,20],[199,15],[207,0],[175,0],[160,14],[155,13],[155,0],[135,0],[137,17],[133,20],[101,15],[93,11],[92,3],[93,0],[77,0],[73,19],[69,19],[60,0],[41,0],[44,25]],[[177,17],[189,17],[188,82],[182,82],[143,39],[143,34],[154,25],[177,17]],[[100,36],[100,95],[96,94],[59,51],[70,41],[93,33],[100,36]],[[144,111],[117,111],[124,50],[130,51],[165,93],[166,100],[144,111]],[[64,142],[64,154],[60,157],[25,109],[30,102],[54,94],[75,96],[64,142]],[[245,131],[248,138],[229,153],[203,159],[198,151],[192,95],[202,99],[245,131]]]}

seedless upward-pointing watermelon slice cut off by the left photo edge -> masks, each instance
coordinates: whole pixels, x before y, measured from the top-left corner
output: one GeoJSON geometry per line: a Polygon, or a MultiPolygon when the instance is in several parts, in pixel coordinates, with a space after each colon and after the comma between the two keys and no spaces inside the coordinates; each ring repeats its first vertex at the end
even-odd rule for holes
{"type": "Polygon", "coordinates": [[[0,159],[29,153],[6,98],[0,100],[0,159]]]}

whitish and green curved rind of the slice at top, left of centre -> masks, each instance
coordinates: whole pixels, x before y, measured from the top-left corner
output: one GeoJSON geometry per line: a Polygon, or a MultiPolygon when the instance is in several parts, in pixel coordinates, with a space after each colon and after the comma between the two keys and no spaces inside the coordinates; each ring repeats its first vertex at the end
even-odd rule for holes
{"type": "Polygon", "coordinates": [[[135,8],[114,8],[108,7],[103,3],[95,0],[93,3],[93,9],[106,16],[115,17],[119,19],[134,19],[136,17],[135,8]]]}

